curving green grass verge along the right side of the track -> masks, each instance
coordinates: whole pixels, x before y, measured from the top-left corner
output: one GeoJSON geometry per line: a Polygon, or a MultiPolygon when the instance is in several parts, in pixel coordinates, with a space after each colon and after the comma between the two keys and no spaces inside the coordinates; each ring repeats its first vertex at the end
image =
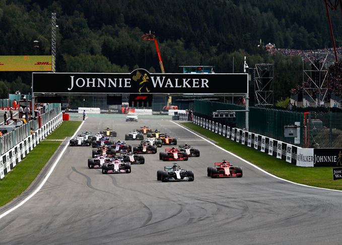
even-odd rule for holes
{"type": "Polygon", "coordinates": [[[334,181],[332,179],[332,167],[297,167],[287,161],[239,144],[193,123],[181,124],[212,139],[217,142],[217,145],[252,162],[272,175],[308,186],[342,190],[342,180],[334,181]]]}

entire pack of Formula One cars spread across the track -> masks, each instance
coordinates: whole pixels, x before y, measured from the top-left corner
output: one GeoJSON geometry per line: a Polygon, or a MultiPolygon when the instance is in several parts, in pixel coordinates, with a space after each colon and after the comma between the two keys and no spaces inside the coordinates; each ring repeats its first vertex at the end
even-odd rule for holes
{"type": "MultiPolygon", "coordinates": [[[[90,146],[92,145],[92,158],[88,159],[88,168],[100,168],[102,174],[108,173],[131,173],[132,164],[145,164],[145,157],[141,154],[156,154],[157,148],[162,145],[173,145],[166,148],[165,152],[159,153],[159,159],[163,161],[187,161],[189,157],[199,157],[199,149],[195,149],[188,144],[177,145],[177,139],[171,137],[160,130],[151,130],[144,125],[140,129],[132,130],[125,134],[125,140],[140,140],[140,144],[131,146],[126,141],[110,140],[115,137],[116,132],[107,127],[98,134],[83,132],[75,139],[70,140],[70,146],[90,146]],[[144,135],[147,136],[144,139],[144,135]]],[[[207,176],[218,177],[242,177],[242,169],[232,166],[230,162],[223,160],[215,162],[214,167],[208,167],[207,176]]],[[[193,181],[194,174],[191,170],[181,168],[175,162],[172,166],[165,166],[164,170],[157,171],[157,180],[168,181],[193,181]]]]}

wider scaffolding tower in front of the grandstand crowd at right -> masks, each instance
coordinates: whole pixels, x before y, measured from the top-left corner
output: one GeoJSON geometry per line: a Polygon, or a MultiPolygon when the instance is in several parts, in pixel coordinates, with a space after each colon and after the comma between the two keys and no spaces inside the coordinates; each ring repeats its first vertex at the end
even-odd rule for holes
{"type": "Polygon", "coordinates": [[[328,53],[304,52],[303,55],[303,106],[324,106],[328,95],[328,53]]]}

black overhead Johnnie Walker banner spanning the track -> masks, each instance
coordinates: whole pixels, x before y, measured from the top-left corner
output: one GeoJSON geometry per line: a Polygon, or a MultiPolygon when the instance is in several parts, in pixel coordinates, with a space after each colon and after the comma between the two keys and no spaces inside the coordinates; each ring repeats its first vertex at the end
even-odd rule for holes
{"type": "Polygon", "coordinates": [[[33,72],[33,93],[247,94],[245,73],[52,73],[33,72]]]}

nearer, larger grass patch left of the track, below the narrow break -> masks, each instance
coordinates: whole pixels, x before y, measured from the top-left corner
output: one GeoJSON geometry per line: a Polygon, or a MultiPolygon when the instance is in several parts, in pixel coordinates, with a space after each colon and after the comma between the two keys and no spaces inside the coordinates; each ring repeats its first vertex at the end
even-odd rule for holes
{"type": "Polygon", "coordinates": [[[42,141],[4,179],[0,180],[0,207],[18,197],[31,185],[60,143],[60,141],[42,141]]]}

